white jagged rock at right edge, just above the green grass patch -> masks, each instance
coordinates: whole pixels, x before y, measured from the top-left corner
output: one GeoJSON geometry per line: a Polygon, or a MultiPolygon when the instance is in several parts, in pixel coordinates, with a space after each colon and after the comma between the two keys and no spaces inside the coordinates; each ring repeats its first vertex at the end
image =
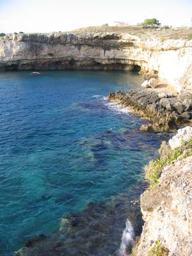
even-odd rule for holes
{"type": "Polygon", "coordinates": [[[172,149],[180,147],[182,141],[188,141],[192,138],[192,127],[187,126],[185,128],[179,129],[177,134],[169,140],[170,147],[172,149]]]}

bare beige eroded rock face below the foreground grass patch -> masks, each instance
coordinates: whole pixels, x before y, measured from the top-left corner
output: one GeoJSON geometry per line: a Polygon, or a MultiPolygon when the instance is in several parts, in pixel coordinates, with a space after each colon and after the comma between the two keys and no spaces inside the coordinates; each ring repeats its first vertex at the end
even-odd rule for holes
{"type": "Polygon", "coordinates": [[[164,168],[159,184],[141,195],[145,225],[137,256],[148,255],[157,240],[170,256],[191,255],[191,175],[192,156],[177,159],[164,168]]]}

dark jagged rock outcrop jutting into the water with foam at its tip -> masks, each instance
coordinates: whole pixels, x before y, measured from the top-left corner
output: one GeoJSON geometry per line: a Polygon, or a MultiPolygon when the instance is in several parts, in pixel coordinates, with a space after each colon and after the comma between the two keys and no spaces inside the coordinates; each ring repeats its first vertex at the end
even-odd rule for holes
{"type": "Polygon", "coordinates": [[[159,95],[150,89],[134,89],[128,92],[109,92],[108,100],[150,120],[152,122],[150,129],[170,131],[176,129],[178,125],[192,124],[192,102],[190,100],[182,102],[180,97],[175,96],[170,93],[159,95]]]}

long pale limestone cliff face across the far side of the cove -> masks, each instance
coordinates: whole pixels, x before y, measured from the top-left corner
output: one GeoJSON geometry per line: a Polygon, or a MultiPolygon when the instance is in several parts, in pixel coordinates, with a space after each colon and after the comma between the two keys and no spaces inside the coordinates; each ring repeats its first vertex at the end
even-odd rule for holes
{"type": "Polygon", "coordinates": [[[192,89],[192,40],[131,33],[13,34],[0,40],[1,70],[96,68],[158,74],[180,92],[192,89]]]}

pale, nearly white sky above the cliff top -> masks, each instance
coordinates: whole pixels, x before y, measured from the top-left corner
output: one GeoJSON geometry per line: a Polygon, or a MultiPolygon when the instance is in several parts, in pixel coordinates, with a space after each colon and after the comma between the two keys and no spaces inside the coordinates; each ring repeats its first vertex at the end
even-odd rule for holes
{"type": "Polygon", "coordinates": [[[192,0],[0,0],[0,33],[49,33],[114,21],[192,26],[192,0]]]}

